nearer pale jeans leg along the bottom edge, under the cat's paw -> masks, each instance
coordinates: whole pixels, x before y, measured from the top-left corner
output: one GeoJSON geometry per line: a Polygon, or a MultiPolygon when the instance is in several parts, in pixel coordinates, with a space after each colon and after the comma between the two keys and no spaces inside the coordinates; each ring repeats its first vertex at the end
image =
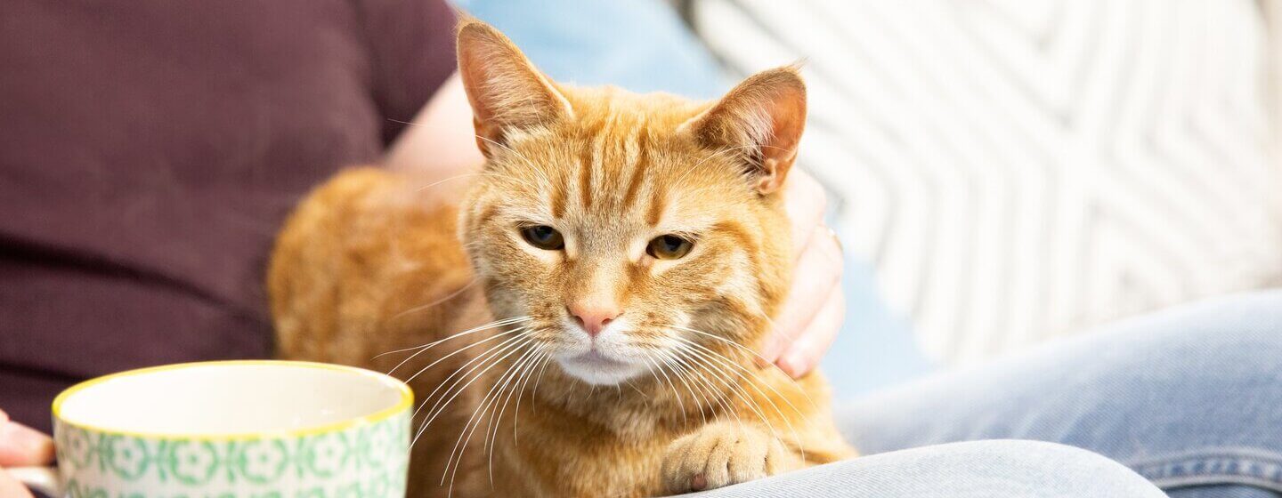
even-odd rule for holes
{"type": "Polygon", "coordinates": [[[696,497],[1159,498],[1151,483],[1083,449],[982,440],[881,453],[696,497]]]}

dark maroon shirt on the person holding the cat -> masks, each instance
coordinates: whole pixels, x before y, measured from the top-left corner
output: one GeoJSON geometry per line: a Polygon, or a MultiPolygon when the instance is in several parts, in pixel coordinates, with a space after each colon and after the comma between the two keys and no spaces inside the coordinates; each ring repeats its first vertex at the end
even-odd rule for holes
{"type": "Polygon", "coordinates": [[[0,3],[0,408],[263,357],[291,205],[454,70],[441,0],[0,3]]]}

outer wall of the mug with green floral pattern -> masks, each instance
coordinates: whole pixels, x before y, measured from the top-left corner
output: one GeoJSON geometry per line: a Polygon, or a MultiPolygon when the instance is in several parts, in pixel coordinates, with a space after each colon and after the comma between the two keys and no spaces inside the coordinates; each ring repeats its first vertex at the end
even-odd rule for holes
{"type": "Polygon", "coordinates": [[[72,498],[404,497],[409,411],[295,438],[192,440],[101,434],[59,424],[72,498]]]}

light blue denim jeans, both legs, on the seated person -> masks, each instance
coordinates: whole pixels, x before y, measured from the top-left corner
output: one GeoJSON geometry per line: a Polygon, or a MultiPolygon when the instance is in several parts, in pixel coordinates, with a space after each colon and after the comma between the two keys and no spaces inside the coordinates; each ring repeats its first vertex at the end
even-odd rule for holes
{"type": "Polygon", "coordinates": [[[709,494],[1279,498],[1282,289],[869,394],[838,420],[872,456],[709,494]]]}

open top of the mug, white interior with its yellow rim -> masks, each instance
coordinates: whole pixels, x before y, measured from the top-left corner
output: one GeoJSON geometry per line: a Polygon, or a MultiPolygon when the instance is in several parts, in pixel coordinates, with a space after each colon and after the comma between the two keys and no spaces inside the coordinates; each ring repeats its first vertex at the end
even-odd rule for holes
{"type": "Polygon", "coordinates": [[[54,401],[67,424],[151,435],[262,435],[312,430],[408,408],[409,387],[347,366],[218,361],[133,370],[54,401]]]}

